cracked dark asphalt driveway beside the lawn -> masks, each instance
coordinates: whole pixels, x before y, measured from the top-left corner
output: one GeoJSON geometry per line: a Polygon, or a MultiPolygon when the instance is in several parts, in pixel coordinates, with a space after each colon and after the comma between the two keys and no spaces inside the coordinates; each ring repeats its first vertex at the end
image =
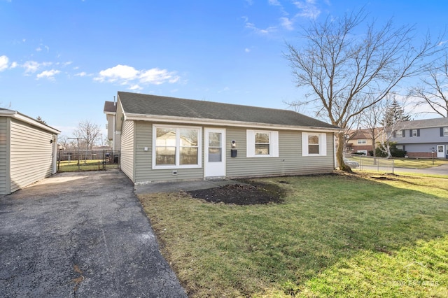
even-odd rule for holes
{"type": "Polygon", "coordinates": [[[0,297],[186,297],[118,170],[0,197],[0,297]]]}

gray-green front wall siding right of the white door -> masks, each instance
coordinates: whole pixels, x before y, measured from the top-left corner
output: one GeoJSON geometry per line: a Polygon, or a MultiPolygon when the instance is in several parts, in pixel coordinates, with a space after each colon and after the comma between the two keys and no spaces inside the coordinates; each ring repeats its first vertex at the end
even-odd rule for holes
{"type": "Polygon", "coordinates": [[[334,138],[327,133],[326,156],[302,156],[302,133],[279,131],[279,157],[246,157],[246,129],[228,128],[227,143],[237,141],[237,157],[227,150],[227,176],[283,176],[330,173],[334,170],[334,138]]]}

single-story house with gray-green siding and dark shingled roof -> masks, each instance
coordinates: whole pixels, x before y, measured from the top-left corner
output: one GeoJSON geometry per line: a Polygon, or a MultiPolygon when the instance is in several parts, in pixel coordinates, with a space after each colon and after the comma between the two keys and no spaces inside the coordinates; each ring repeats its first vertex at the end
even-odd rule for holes
{"type": "Polygon", "coordinates": [[[329,173],[341,130],[294,111],[130,92],[115,116],[120,169],[136,184],[329,173]]]}

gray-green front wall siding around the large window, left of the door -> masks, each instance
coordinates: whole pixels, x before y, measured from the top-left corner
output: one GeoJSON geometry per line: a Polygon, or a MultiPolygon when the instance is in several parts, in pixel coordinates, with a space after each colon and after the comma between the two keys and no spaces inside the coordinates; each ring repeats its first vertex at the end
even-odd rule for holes
{"type": "MultiPolygon", "coordinates": [[[[165,125],[165,124],[164,124],[165,125]]],[[[168,124],[169,125],[169,124],[168,124]]],[[[182,126],[175,125],[172,126],[182,126]]],[[[192,125],[195,126],[195,125],[192,125]]],[[[202,128],[202,134],[204,129],[202,128]]],[[[204,138],[202,137],[202,148],[204,147],[204,138]]],[[[123,143],[124,144],[124,143],[123,143]]],[[[195,169],[155,169],[153,170],[153,123],[138,121],[136,122],[136,179],[135,183],[146,183],[151,181],[176,181],[189,179],[204,178],[204,166],[195,169]],[[148,151],[144,148],[148,147],[148,151]],[[177,175],[173,175],[173,171],[177,171],[177,175]]],[[[204,156],[204,154],[202,154],[204,156]]]]}

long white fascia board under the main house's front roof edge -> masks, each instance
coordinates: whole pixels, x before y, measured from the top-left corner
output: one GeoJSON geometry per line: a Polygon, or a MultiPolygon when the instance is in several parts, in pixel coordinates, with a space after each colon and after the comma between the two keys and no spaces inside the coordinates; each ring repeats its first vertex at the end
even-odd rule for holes
{"type": "Polygon", "coordinates": [[[247,127],[258,129],[290,129],[300,130],[307,132],[343,132],[344,129],[339,128],[325,128],[325,127],[302,127],[295,125],[271,125],[268,123],[256,123],[256,122],[244,122],[244,121],[230,121],[230,120],[217,120],[217,119],[199,119],[199,118],[186,118],[186,117],[172,117],[172,116],[160,116],[160,115],[147,115],[147,114],[134,114],[123,113],[124,121],[151,121],[158,123],[191,123],[195,125],[218,125],[218,126],[230,126],[230,127],[247,127]]]}

